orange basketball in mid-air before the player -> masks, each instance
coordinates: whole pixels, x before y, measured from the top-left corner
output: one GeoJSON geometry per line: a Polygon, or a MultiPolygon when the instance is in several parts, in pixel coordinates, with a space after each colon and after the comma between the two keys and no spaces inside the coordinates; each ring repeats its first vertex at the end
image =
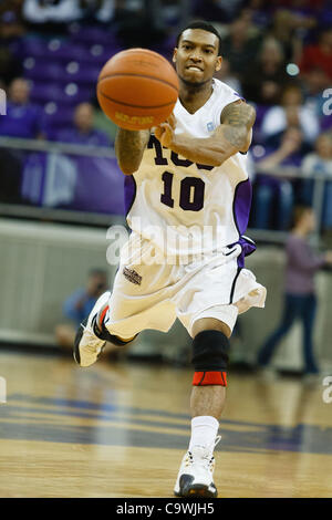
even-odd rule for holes
{"type": "Polygon", "coordinates": [[[115,54],[103,66],[97,98],[117,126],[145,129],[163,123],[178,97],[178,77],[170,63],[147,49],[115,54]]]}

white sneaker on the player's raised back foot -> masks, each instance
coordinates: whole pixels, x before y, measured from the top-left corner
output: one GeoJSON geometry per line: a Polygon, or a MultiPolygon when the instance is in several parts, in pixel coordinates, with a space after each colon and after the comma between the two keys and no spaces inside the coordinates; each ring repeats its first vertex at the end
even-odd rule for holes
{"type": "Polygon", "coordinates": [[[89,316],[81,323],[74,341],[74,360],[81,366],[90,366],[95,363],[102,353],[106,341],[101,340],[94,333],[94,322],[103,306],[110,300],[111,292],[104,292],[95,302],[89,316]]]}

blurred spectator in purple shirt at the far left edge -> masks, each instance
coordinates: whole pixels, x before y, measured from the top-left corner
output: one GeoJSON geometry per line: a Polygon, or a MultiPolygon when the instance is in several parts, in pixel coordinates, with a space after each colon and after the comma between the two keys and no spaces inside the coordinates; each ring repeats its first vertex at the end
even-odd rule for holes
{"type": "MultiPolygon", "coordinates": [[[[7,115],[0,116],[0,136],[27,139],[42,137],[42,112],[29,101],[29,84],[18,77],[9,87],[7,115]]],[[[25,153],[15,148],[0,148],[2,202],[21,201],[20,188],[25,153]]]]}

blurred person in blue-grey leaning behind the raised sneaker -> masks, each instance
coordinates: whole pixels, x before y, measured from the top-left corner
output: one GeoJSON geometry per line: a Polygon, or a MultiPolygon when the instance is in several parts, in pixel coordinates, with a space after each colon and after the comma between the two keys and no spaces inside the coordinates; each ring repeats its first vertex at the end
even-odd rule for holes
{"type": "Polygon", "coordinates": [[[102,269],[90,271],[85,288],[77,289],[63,304],[63,314],[69,323],[55,327],[56,342],[62,347],[72,347],[76,329],[90,314],[98,297],[107,289],[107,275],[102,269]]]}

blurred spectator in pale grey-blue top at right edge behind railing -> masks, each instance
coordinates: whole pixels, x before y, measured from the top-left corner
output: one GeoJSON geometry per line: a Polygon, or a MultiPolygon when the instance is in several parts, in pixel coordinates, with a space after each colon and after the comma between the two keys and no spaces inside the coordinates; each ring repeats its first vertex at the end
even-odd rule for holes
{"type": "Polygon", "coordinates": [[[302,199],[304,204],[311,205],[313,200],[314,179],[308,177],[325,177],[323,191],[323,207],[321,225],[323,229],[332,229],[332,133],[321,134],[317,142],[314,152],[305,155],[302,162],[302,175],[307,179],[302,183],[302,199]]]}

